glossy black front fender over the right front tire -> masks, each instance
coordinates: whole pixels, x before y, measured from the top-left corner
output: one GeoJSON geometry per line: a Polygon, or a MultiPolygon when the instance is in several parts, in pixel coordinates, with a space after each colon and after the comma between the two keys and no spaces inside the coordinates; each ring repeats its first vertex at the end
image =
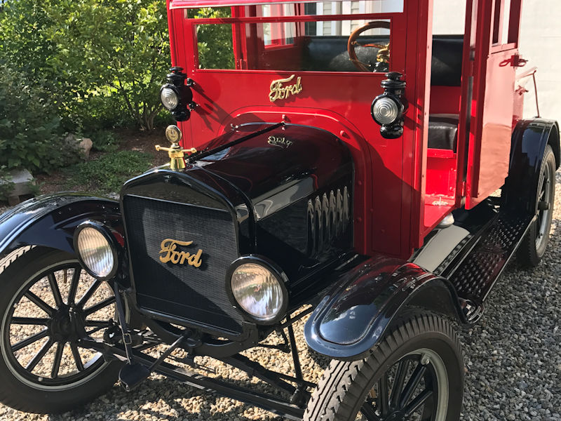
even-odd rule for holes
{"type": "Polygon", "coordinates": [[[306,321],[304,337],[325,356],[361,359],[411,310],[465,321],[450,281],[414,263],[377,255],[341,276],[306,321]]]}

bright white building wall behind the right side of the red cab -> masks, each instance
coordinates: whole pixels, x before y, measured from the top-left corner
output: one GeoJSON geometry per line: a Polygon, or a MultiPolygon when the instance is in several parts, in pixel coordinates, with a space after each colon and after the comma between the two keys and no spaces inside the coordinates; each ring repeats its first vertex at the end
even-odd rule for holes
{"type": "MultiPolygon", "coordinates": [[[[561,0],[523,0],[520,53],[529,60],[524,72],[538,67],[536,79],[541,115],[561,121],[561,0]]],[[[466,0],[434,0],[435,34],[459,33],[464,27],[466,0]]],[[[463,32],[463,31],[462,31],[463,32]]],[[[529,81],[525,116],[536,115],[534,86],[529,81]]]]}

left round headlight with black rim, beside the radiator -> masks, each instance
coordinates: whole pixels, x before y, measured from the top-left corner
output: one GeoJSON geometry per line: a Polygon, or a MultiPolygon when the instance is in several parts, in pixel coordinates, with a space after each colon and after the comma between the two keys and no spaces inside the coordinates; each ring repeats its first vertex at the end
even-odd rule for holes
{"type": "Polygon", "coordinates": [[[117,269],[116,241],[109,229],[97,222],[81,223],[74,233],[74,249],[86,272],[98,279],[111,279],[117,269]]]}

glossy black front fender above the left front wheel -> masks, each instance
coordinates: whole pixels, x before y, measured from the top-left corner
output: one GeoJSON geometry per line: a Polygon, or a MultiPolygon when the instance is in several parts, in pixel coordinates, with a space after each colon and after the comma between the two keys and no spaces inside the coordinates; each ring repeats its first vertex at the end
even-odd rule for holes
{"type": "Polygon", "coordinates": [[[0,215],[0,260],[24,246],[74,253],[74,229],[97,220],[123,234],[119,202],[77,193],[38,196],[0,215]]]}

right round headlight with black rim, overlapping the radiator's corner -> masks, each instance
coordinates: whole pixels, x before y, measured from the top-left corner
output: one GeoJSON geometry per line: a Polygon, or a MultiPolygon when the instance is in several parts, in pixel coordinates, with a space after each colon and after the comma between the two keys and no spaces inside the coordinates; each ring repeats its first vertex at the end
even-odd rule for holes
{"type": "Polygon", "coordinates": [[[252,319],[273,323],[288,305],[285,276],[258,258],[241,258],[231,269],[234,300],[252,319]]]}

